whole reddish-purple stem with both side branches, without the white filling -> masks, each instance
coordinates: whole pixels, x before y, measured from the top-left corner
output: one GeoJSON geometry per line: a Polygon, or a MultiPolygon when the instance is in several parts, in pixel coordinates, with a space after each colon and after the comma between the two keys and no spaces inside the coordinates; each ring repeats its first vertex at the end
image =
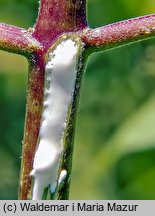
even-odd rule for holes
{"type": "MultiPolygon", "coordinates": [[[[0,24],[0,49],[25,55],[29,60],[29,82],[21,166],[19,199],[31,199],[30,172],[37,145],[44,89],[45,55],[62,35],[79,36],[91,52],[107,50],[123,44],[155,36],[155,15],[126,20],[96,29],[87,27],[86,0],[41,0],[33,29],[0,24]]],[[[82,51],[81,51],[82,52],[82,51]]],[[[88,54],[88,53],[87,53],[88,54]]],[[[79,62],[79,68],[80,62],[79,62]]],[[[78,72],[74,100],[64,139],[61,169],[68,171],[57,198],[68,199],[73,152],[75,119],[81,86],[82,69],[78,72]]]]}

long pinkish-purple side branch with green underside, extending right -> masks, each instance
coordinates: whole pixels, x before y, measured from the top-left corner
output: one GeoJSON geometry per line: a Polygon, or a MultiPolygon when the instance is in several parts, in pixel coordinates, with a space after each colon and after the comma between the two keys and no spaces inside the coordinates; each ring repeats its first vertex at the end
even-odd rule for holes
{"type": "MultiPolygon", "coordinates": [[[[93,48],[109,49],[155,36],[155,14],[83,30],[81,39],[93,48]]],[[[97,51],[98,51],[97,49],[97,51]]],[[[95,51],[93,49],[93,51],[95,51]]]]}

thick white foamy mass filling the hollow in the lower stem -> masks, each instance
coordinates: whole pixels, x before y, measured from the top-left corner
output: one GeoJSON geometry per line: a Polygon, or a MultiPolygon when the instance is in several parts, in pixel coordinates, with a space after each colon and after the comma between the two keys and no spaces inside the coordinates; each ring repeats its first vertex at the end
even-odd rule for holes
{"type": "Polygon", "coordinates": [[[57,186],[62,137],[76,80],[77,52],[77,42],[69,38],[60,42],[48,56],[39,143],[31,172],[33,200],[42,199],[46,187],[54,191],[57,186]]]}

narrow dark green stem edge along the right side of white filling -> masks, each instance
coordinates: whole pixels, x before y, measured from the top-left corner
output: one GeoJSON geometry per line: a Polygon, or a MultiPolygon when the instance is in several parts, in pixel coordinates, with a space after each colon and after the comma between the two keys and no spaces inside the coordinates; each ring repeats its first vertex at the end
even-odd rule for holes
{"type": "Polygon", "coordinates": [[[82,48],[79,53],[76,84],[74,88],[73,101],[72,101],[71,108],[70,108],[67,129],[66,129],[66,133],[64,136],[64,149],[62,153],[62,161],[59,167],[59,172],[61,170],[66,170],[67,176],[62,182],[62,184],[60,184],[57,188],[55,199],[58,199],[58,200],[68,200],[69,199],[75,125],[76,125],[78,105],[79,105],[80,93],[81,93],[81,87],[82,87],[82,78],[84,75],[86,59],[87,59],[87,53],[82,48]]]}

